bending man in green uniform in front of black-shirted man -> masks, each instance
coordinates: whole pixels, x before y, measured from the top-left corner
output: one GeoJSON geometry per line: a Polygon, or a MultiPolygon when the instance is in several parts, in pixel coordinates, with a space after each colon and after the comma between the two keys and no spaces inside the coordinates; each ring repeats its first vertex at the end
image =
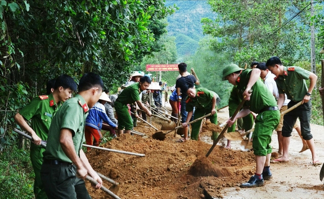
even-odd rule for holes
{"type": "MultiPolygon", "coordinates": [[[[190,86],[187,90],[187,98],[186,98],[186,111],[188,112],[188,116],[186,122],[182,123],[183,127],[188,126],[188,122],[190,121],[193,115],[193,108],[195,107],[194,117],[200,118],[205,116],[206,114],[212,113],[208,118],[212,123],[217,124],[217,112],[216,112],[216,93],[208,90],[206,88],[194,88],[190,86]]],[[[200,125],[203,120],[199,120],[195,123],[192,123],[191,130],[191,139],[200,140],[199,130],[200,125]]],[[[212,133],[212,140],[217,139],[217,132],[212,133]]]]}

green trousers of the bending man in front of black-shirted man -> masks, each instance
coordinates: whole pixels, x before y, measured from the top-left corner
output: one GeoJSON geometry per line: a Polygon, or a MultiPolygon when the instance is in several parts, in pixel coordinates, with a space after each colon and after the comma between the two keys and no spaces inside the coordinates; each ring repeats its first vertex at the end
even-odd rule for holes
{"type": "MultiPolygon", "coordinates": [[[[206,109],[195,109],[194,111],[194,117],[195,118],[200,118],[200,117],[203,117],[209,113],[212,112],[212,109],[211,108],[206,108],[206,109]]],[[[213,124],[216,124],[217,125],[217,112],[212,115],[212,116],[209,116],[207,117],[208,119],[211,120],[211,123],[213,124]]],[[[201,122],[203,120],[199,120],[195,123],[192,123],[191,124],[191,139],[194,139],[194,140],[198,140],[198,137],[199,137],[199,130],[200,130],[200,125],[201,125],[201,122]]],[[[218,133],[217,132],[212,132],[212,140],[216,140],[218,137],[218,133]]]]}

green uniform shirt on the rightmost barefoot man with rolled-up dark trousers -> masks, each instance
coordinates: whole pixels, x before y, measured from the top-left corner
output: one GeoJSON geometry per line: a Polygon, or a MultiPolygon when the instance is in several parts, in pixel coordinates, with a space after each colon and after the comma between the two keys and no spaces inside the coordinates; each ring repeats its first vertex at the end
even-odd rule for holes
{"type": "Polygon", "coordinates": [[[302,101],[308,88],[305,79],[309,79],[310,72],[300,67],[285,67],[284,75],[275,79],[279,94],[286,93],[289,100],[302,101]]]}

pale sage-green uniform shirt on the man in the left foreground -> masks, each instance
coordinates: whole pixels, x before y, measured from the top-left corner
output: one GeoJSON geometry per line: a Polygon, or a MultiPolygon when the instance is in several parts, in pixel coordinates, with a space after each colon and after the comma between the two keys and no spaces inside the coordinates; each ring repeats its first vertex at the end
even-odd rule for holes
{"type": "Polygon", "coordinates": [[[65,155],[60,144],[60,134],[62,128],[72,130],[72,140],[75,152],[78,156],[85,141],[85,123],[89,108],[84,98],[77,94],[66,101],[53,118],[49,130],[46,150],[43,153],[47,160],[59,160],[71,163],[72,161],[65,155]],[[84,106],[84,108],[83,108],[84,106]]]}

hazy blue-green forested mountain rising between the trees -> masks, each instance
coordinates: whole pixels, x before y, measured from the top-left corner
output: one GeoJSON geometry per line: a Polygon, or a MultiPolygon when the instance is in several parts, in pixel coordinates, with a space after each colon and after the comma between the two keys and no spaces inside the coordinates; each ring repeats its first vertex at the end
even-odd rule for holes
{"type": "Polygon", "coordinates": [[[166,6],[176,5],[179,10],[167,17],[168,34],[176,37],[179,61],[185,55],[193,55],[198,42],[204,37],[201,18],[215,18],[207,1],[166,1],[166,6]]]}

